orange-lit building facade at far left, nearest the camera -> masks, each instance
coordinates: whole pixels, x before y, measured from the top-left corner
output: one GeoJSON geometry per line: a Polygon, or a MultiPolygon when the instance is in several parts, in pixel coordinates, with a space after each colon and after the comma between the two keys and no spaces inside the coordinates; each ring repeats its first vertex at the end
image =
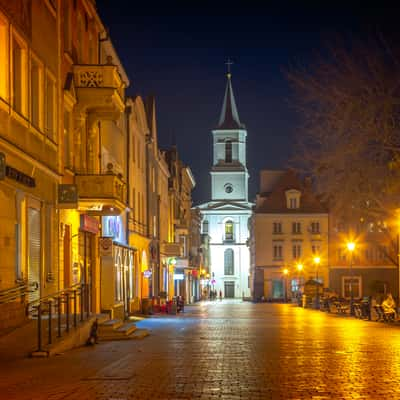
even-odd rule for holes
{"type": "Polygon", "coordinates": [[[13,294],[35,301],[60,285],[59,24],[52,2],[0,1],[0,329],[25,318],[13,294]]]}

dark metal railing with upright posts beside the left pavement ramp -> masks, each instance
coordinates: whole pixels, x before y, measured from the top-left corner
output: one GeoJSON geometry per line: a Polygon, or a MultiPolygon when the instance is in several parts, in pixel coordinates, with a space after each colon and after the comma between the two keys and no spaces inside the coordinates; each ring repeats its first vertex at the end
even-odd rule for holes
{"type": "Polygon", "coordinates": [[[80,284],[41,297],[27,305],[27,314],[37,319],[37,351],[51,345],[90,317],[90,285],[80,284]]]}

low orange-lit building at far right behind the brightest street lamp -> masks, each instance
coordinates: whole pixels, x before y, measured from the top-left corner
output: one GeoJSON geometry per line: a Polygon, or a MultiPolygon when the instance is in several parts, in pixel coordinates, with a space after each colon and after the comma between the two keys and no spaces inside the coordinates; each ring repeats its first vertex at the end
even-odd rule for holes
{"type": "Polygon", "coordinates": [[[330,286],[340,296],[354,299],[399,294],[397,226],[387,223],[344,221],[330,216],[330,286]],[[347,243],[354,242],[349,251],[347,243]],[[352,293],[351,293],[352,292],[352,293]]]}

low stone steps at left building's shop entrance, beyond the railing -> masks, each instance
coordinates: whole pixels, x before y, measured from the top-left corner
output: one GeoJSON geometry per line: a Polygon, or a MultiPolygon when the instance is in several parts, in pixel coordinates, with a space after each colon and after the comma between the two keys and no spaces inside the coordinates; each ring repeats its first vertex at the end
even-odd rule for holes
{"type": "Polygon", "coordinates": [[[137,329],[134,322],[123,322],[112,319],[99,324],[97,331],[99,340],[143,339],[149,335],[147,329],[137,329]]]}

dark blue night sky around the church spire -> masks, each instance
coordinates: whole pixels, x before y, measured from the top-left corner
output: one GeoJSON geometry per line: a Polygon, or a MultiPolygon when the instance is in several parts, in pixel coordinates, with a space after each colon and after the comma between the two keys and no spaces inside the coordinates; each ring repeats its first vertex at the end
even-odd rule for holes
{"type": "Polygon", "coordinates": [[[246,9],[233,3],[218,9],[220,2],[197,2],[198,8],[188,8],[190,2],[168,1],[161,8],[139,3],[97,0],[97,8],[130,78],[128,94],[156,96],[159,145],[175,142],[191,167],[197,182],[194,204],[210,196],[211,129],[221,111],[228,57],[234,61],[239,116],[248,131],[253,200],[258,171],[287,166],[294,151],[301,117],[285,71],[312,64],[338,35],[360,38],[396,30],[400,15],[400,9],[382,6],[328,8],[305,1],[265,8],[242,2],[246,9]],[[238,11],[240,16],[233,15],[238,11]]]}

